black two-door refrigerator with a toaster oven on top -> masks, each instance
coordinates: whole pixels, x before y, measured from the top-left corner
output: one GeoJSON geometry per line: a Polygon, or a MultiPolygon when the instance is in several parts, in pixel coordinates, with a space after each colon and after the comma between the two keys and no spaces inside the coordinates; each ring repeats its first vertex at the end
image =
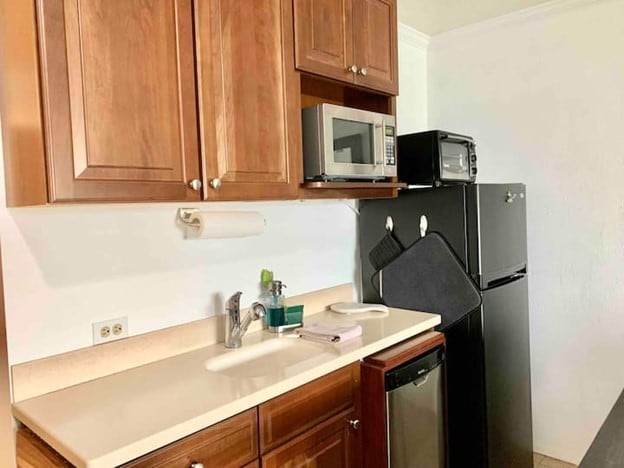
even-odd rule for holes
{"type": "MultiPolygon", "coordinates": [[[[447,340],[448,460],[451,468],[533,466],[523,184],[469,184],[402,190],[360,202],[359,247],[365,302],[384,302],[369,252],[386,234],[408,247],[420,217],[441,234],[478,286],[482,305],[437,329],[447,340]]],[[[416,291],[414,292],[416,294],[416,291]]],[[[440,313],[429,310],[426,312],[440,313]]]]}

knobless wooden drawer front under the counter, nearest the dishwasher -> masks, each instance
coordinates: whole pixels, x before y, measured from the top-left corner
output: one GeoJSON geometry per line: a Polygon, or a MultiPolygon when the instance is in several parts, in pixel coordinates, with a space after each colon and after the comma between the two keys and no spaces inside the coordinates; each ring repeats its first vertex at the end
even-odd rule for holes
{"type": "Polygon", "coordinates": [[[356,362],[259,406],[260,452],[283,444],[329,417],[357,407],[360,363],[356,362]]]}

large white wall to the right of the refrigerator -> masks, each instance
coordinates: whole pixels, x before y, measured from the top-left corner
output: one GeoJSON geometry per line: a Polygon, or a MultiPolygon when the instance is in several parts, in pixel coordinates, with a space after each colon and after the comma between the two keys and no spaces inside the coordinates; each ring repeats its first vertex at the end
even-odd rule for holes
{"type": "Polygon", "coordinates": [[[579,462],[624,386],[624,1],[431,38],[429,123],[527,184],[535,450],[579,462]]]}

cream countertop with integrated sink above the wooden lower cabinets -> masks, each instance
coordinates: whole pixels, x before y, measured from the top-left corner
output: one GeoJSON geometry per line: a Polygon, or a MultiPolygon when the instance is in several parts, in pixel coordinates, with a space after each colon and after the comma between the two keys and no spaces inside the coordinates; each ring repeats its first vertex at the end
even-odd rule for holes
{"type": "Polygon", "coordinates": [[[14,403],[13,414],[77,467],[108,468],[422,333],[438,325],[440,316],[390,309],[388,314],[351,316],[321,312],[306,315],[305,320],[358,322],[363,333],[340,344],[250,333],[238,350],[228,350],[222,343],[207,346],[14,403]],[[279,341],[267,346],[268,340],[279,341]],[[287,346],[284,359],[272,359],[270,371],[253,372],[250,365],[236,373],[211,365],[235,361],[242,353],[262,359],[254,356],[254,350],[282,346],[287,346]]]}

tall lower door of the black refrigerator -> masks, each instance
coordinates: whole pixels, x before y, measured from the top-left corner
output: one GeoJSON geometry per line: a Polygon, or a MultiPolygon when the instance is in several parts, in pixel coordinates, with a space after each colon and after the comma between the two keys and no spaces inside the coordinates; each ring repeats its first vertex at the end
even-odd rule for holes
{"type": "Polygon", "coordinates": [[[488,466],[531,468],[531,369],[526,276],[483,292],[488,466]]]}

